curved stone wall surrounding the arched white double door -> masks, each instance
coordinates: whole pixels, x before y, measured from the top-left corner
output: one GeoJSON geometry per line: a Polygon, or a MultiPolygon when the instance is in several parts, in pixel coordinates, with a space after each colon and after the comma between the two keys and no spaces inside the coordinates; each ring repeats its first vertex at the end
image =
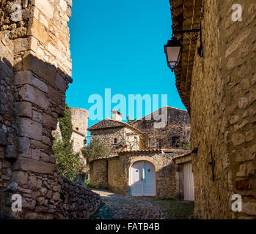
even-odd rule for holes
{"type": "Polygon", "coordinates": [[[118,157],[91,162],[89,180],[93,186],[103,180],[113,192],[129,195],[129,169],[134,162],[149,161],[156,168],[156,197],[176,198],[175,164],[172,154],[159,152],[123,152],[118,157]],[[91,170],[93,168],[93,170],[91,170]]]}

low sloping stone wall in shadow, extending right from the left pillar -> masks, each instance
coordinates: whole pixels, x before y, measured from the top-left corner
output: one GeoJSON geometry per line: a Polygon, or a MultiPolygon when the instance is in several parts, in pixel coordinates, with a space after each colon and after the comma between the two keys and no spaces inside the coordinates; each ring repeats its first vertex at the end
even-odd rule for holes
{"type": "Polygon", "coordinates": [[[100,195],[63,178],[60,202],[62,219],[89,219],[100,206],[100,195]]]}

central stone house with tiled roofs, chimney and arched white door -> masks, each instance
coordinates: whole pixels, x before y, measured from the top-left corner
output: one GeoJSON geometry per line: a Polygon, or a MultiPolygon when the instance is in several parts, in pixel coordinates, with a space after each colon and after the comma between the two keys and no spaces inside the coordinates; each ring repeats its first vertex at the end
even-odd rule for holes
{"type": "Polygon", "coordinates": [[[112,111],[112,119],[106,118],[89,127],[91,140],[98,139],[110,149],[106,159],[89,160],[92,186],[132,196],[182,197],[176,187],[174,159],[189,151],[178,145],[182,137],[187,140],[189,115],[172,107],[161,108],[158,113],[161,111],[168,116],[167,126],[163,128],[155,129],[154,122],[159,119],[155,121],[148,116],[126,124],[117,110],[112,111]],[[159,139],[158,143],[162,144],[150,145],[148,139],[151,142],[159,139]]]}

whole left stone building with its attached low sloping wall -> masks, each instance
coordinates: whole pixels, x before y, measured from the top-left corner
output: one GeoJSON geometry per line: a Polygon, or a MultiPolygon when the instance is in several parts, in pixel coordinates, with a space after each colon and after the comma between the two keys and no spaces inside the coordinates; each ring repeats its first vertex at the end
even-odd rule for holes
{"type": "Polygon", "coordinates": [[[0,210],[16,219],[87,219],[99,196],[59,176],[51,148],[72,82],[72,2],[0,6],[0,210]],[[10,210],[13,194],[22,196],[22,212],[10,210]]]}

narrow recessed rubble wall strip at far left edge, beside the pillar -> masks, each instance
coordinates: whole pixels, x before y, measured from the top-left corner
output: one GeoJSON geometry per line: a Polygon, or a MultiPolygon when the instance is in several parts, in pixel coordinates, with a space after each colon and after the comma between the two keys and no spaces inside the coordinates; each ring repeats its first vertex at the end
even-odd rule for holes
{"type": "Polygon", "coordinates": [[[13,43],[6,34],[0,32],[0,207],[2,209],[7,209],[4,204],[4,189],[12,178],[10,161],[17,156],[12,66],[13,43]]]}

